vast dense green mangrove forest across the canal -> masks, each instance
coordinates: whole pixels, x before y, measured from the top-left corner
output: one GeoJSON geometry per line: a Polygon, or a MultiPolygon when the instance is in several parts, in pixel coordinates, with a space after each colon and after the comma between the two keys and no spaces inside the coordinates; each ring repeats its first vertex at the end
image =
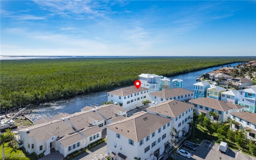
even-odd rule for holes
{"type": "Polygon", "coordinates": [[[0,105],[45,102],[133,84],[142,73],[172,76],[254,58],[66,58],[1,60],[0,105]]]}

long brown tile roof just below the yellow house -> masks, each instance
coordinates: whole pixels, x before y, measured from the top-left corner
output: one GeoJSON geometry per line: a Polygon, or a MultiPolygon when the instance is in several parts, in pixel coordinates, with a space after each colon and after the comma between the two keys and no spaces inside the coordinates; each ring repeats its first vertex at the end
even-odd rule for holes
{"type": "Polygon", "coordinates": [[[189,102],[220,111],[244,108],[243,106],[223,102],[221,100],[216,100],[214,98],[196,98],[193,100],[189,100],[189,102]]]}

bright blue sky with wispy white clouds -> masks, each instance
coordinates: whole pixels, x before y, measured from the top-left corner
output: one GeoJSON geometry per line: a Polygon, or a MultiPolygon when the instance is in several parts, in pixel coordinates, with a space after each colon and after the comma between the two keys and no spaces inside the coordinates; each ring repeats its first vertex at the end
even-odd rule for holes
{"type": "Polygon", "coordinates": [[[256,56],[256,1],[0,1],[1,55],[256,56]]]}

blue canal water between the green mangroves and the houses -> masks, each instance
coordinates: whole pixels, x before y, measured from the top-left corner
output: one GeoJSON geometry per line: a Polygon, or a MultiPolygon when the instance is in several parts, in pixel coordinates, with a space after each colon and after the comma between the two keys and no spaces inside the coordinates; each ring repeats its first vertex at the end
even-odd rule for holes
{"type": "MultiPolygon", "coordinates": [[[[238,63],[233,63],[230,64],[231,66],[235,66],[238,63]]],[[[227,65],[225,65],[227,66],[227,65]]],[[[204,74],[205,72],[210,72],[212,70],[216,70],[220,68],[221,66],[218,67],[212,67],[212,68],[207,68],[204,70],[198,70],[196,72],[189,72],[186,74],[180,74],[176,76],[170,77],[171,80],[173,79],[182,79],[183,80],[183,88],[187,90],[193,90],[193,84],[196,83],[196,77],[200,76],[201,74],[204,74]]],[[[75,96],[73,98],[68,98],[68,99],[59,99],[59,100],[53,100],[51,102],[46,102],[38,105],[32,105],[28,110],[32,110],[31,114],[28,114],[27,116],[33,120],[39,120],[41,118],[52,118],[56,114],[59,114],[61,112],[64,113],[69,113],[72,114],[73,112],[80,112],[80,110],[84,106],[88,106],[90,104],[100,104],[100,102],[107,101],[107,94],[106,92],[115,90],[118,88],[122,88],[125,86],[117,87],[117,88],[112,88],[109,90],[104,90],[101,92],[94,92],[90,94],[85,94],[85,95],[79,95],[75,96]]]]}

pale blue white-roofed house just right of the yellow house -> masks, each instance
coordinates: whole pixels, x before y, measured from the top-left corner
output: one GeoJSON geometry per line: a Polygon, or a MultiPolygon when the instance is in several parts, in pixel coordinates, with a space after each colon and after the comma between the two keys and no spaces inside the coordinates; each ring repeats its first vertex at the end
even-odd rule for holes
{"type": "Polygon", "coordinates": [[[238,91],[228,90],[221,93],[221,100],[231,104],[238,104],[238,91]]]}

